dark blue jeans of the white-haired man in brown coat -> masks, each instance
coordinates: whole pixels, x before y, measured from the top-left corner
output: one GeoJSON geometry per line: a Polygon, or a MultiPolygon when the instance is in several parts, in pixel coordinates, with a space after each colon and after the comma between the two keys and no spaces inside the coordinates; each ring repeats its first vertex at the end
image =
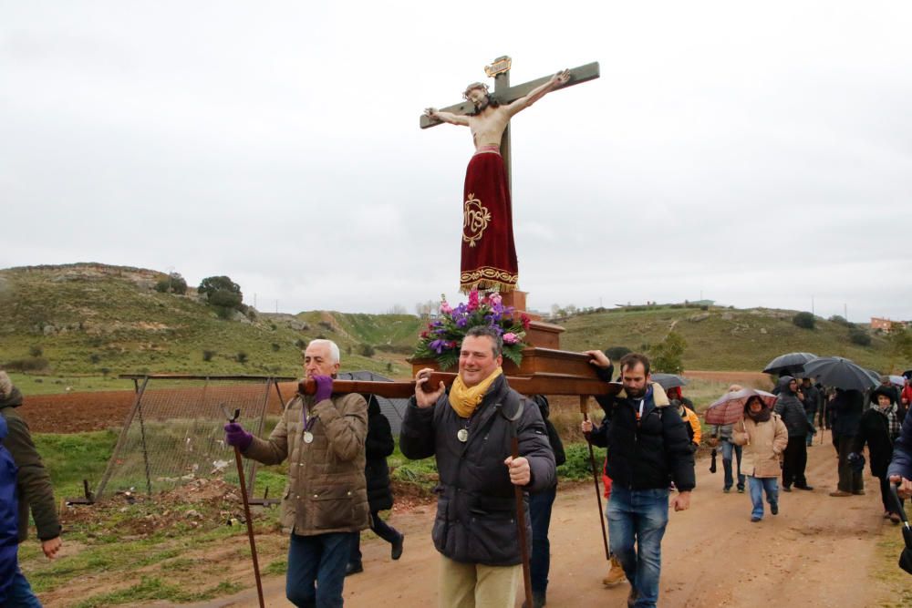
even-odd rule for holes
{"type": "Polygon", "coordinates": [[[285,579],[288,601],[299,607],[340,608],[350,544],[350,532],[314,536],[292,532],[285,579]]]}

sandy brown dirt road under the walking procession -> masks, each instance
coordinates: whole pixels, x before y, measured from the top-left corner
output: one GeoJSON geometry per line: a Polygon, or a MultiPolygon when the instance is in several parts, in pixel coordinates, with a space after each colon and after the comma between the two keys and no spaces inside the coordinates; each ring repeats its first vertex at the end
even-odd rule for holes
{"type": "MultiPolygon", "coordinates": [[[[829,444],[809,450],[808,480],[814,491],[782,493],[781,511],[751,523],[746,494],[723,494],[719,472],[709,461],[697,465],[698,489],[691,509],[672,512],[662,545],[661,606],[868,606],[881,595],[869,578],[877,535],[883,526],[879,491],[866,477],[867,494],[831,498],[835,451],[829,444]]],[[[866,474],[865,474],[866,475],[866,474]]],[[[383,541],[362,542],[363,573],[345,584],[347,606],[437,605],[438,553],[430,541],[433,507],[397,514],[391,523],[406,532],[399,562],[383,541]]],[[[605,589],[607,570],[591,485],[559,490],[551,531],[548,606],[625,605],[629,587],[605,589]]],[[[898,533],[898,531],[896,531],[898,533]]],[[[285,600],[284,578],[264,582],[268,606],[285,600]]],[[[517,601],[521,603],[522,598],[517,601]]],[[[198,608],[256,606],[255,589],[198,608]]]]}

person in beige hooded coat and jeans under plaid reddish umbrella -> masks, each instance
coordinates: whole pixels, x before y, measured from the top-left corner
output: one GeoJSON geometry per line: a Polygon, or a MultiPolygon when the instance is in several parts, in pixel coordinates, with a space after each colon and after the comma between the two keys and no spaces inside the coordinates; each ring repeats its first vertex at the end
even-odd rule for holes
{"type": "MultiPolygon", "coordinates": [[[[743,398],[743,397],[742,397],[743,398]]],[[[747,397],[744,417],[732,429],[731,440],[745,448],[745,467],[751,489],[751,521],[763,519],[763,492],[770,503],[770,512],[779,513],[779,462],[789,443],[789,432],[782,417],[772,412],[770,404],[760,395],[747,397]]]]}

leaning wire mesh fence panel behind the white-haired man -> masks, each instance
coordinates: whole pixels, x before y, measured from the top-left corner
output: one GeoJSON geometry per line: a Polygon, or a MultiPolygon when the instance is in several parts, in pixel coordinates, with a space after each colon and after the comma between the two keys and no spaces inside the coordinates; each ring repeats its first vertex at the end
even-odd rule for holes
{"type": "MultiPolygon", "coordinates": [[[[224,442],[226,413],[260,436],[270,397],[278,393],[267,376],[139,376],[136,399],[120,433],[95,499],[119,491],[149,495],[199,478],[238,483],[234,449],[224,442]],[[271,395],[273,393],[274,395],[271,395]]],[[[253,460],[244,478],[254,487],[253,460]]]]}

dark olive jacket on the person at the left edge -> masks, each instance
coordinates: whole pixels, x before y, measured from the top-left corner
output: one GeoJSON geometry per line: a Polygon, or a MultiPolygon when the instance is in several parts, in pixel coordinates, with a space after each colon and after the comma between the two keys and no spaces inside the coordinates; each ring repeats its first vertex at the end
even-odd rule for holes
{"type": "Polygon", "coordinates": [[[32,510],[38,539],[50,541],[60,536],[60,520],[54,501],[51,476],[45,468],[26,421],[16,407],[22,405],[22,393],[16,386],[7,397],[0,398],[0,415],[6,420],[9,435],[4,445],[19,468],[16,482],[19,491],[19,542],[28,538],[28,510],[32,510]]]}

